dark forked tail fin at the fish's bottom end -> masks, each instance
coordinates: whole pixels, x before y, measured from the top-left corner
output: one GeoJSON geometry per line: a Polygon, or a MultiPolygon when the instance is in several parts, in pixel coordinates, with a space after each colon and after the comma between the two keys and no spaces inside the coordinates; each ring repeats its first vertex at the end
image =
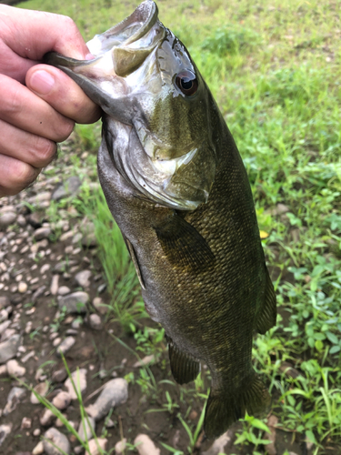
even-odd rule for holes
{"type": "Polygon", "coordinates": [[[271,404],[271,397],[262,379],[253,373],[238,389],[211,390],[207,400],[204,430],[208,439],[223,434],[236,420],[250,415],[259,415],[271,404]]]}

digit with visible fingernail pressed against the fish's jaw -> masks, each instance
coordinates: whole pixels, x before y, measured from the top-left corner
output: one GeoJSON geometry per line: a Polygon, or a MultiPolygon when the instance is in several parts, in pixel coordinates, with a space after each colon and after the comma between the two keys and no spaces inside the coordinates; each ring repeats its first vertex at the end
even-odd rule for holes
{"type": "Polygon", "coordinates": [[[63,116],[77,123],[94,123],[101,109],[63,71],[53,66],[37,65],[26,75],[26,86],[63,116]]]}

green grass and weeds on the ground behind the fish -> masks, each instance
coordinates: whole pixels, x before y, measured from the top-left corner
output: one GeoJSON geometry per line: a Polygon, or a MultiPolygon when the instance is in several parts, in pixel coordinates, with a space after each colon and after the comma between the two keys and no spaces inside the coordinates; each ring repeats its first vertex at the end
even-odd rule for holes
{"type": "MultiPolygon", "coordinates": [[[[90,38],[136,2],[23,5],[71,15],[90,38]]],[[[244,158],[259,227],[268,234],[263,244],[279,318],[255,340],[253,355],[273,393],[278,426],[314,442],[315,455],[326,447],[341,450],[339,2],[164,0],[158,6],[216,96],[244,158]],[[285,361],[299,372],[296,378],[281,369],[285,361]]],[[[80,147],[95,149],[98,126],[78,126],[76,133],[80,147]]],[[[109,317],[137,333],[145,313],[133,266],[102,193],[85,187],[82,195],[113,295],[109,317]]],[[[153,353],[160,340],[136,346],[153,353]]],[[[246,419],[237,445],[259,450],[259,440],[259,429],[246,419]]]]}

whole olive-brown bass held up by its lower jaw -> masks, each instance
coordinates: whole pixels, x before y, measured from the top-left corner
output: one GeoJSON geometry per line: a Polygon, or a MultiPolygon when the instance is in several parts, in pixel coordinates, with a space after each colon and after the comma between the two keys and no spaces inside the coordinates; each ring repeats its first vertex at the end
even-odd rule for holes
{"type": "Polygon", "coordinates": [[[206,438],[271,397],[254,334],[276,324],[246,168],[186,46],[146,0],[87,43],[93,60],[50,53],[103,109],[98,177],[135,264],[145,308],[165,329],[179,384],[211,374],[206,438]]]}

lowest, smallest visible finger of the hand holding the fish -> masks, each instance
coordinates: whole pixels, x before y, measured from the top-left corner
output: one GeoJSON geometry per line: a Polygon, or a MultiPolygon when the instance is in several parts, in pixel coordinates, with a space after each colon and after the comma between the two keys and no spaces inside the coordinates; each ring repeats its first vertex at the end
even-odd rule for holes
{"type": "Polygon", "coordinates": [[[40,169],[6,155],[0,155],[0,197],[12,196],[35,181],[40,169]]]}

